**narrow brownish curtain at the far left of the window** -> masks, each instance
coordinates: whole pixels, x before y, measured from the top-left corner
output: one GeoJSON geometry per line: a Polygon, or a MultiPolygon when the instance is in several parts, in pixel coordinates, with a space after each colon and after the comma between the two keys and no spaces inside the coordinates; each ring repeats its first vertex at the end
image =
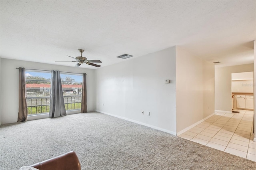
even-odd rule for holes
{"type": "Polygon", "coordinates": [[[19,68],[19,113],[17,122],[26,122],[28,118],[25,71],[25,68],[19,68]]]}

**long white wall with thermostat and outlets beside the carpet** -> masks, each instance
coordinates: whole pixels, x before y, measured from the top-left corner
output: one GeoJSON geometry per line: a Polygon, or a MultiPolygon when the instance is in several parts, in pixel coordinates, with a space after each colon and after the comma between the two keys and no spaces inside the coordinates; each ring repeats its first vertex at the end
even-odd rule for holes
{"type": "Polygon", "coordinates": [[[96,111],[176,134],[175,55],[170,47],[96,69],[96,111]]]}

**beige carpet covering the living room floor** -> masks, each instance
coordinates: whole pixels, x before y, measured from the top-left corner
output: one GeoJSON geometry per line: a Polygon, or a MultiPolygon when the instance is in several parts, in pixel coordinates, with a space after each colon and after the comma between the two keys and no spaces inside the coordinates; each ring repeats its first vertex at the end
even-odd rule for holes
{"type": "Polygon", "coordinates": [[[70,150],[82,170],[256,169],[256,162],[101,113],[1,125],[0,147],[0,170],[70,150]]]}

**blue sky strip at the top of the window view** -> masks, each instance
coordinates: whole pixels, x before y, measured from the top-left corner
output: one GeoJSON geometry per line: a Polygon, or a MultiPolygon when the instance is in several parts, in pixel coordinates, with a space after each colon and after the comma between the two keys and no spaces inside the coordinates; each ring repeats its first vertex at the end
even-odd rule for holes
{"type": "MultiPolygon", "coordinates": [[[[44,77],[46,79],[50,79],[52,77],[52,73],[36,72],[36,71],[26,71],[26,77],[28,77],[28,76],[42,76],[42,77],[44,77]]],[[[66,76],[69,76],[72,79],[75,79],[74,81],[79,81],[79,82],[83,81],[83,76],[82,75],[72,75],[72,74],[67,75],[67,74],[60,73],[60,77],[61,78],[62,77],[64,78],[66,76]]]]}

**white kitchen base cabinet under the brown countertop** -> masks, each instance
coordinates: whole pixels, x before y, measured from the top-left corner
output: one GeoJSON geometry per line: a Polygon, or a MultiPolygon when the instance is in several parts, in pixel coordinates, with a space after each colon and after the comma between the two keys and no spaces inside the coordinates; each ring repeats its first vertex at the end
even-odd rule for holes
{"type": "Polygon", "coordinates": [[[252,95],[236,95],[236,107],[240,109],[254,109],[252,95]]]}

